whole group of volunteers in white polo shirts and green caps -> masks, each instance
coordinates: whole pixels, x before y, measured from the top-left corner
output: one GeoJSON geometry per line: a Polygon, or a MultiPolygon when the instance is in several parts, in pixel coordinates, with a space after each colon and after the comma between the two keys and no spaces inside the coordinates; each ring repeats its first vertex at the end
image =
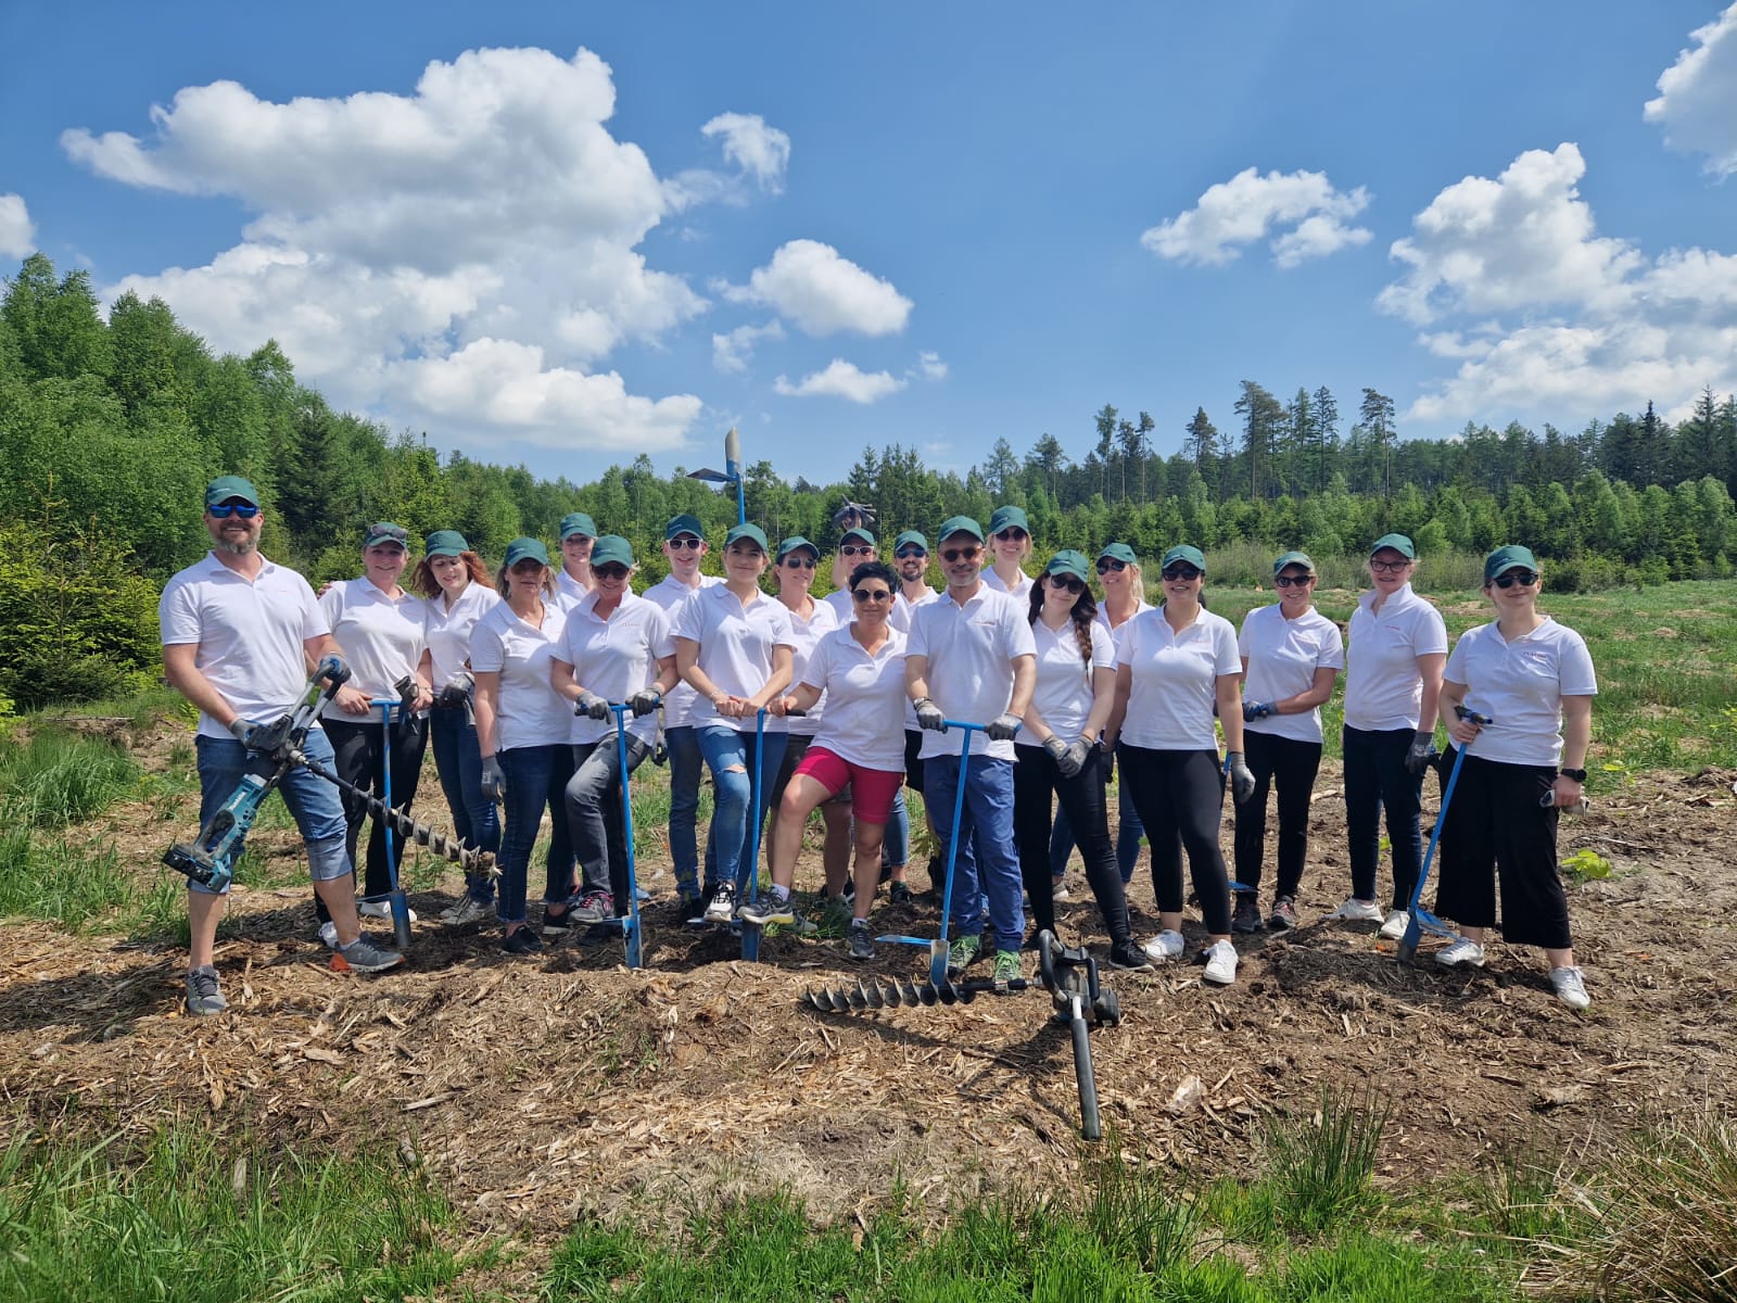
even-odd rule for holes
{"type": "MultiPolygon", "coordinates": [[[[580,924],[601,935],[627,910],[636,888],[622,787],[648,757],[667,757],[677,903],[705,921],[796,923],[792,884],[818,810],[825,893],[851,912],[849,956],[872,959],[868,914],[882,884],[895,903],[912,900],[910,787],[938,844],[952,848],[955,975],[980,957],[997,982],[1021,975],[1027,914],[1034,931],[1056,926],[1077,846],[1112,966],[1183,957],[1186,857],[1207,936],[1204,980],[1230,983],[1235,935],[1299,924],[1320,711],[1344,671],[1351,895],[1329,917],[1405,933],[1423,860],[1423,777],[1461,749],[1436,895],[1457,936],[1436,959],[1483,964],[1499,914],[1509,943],[1544,947],[1558,997],[1588,1004],[1556,872],[1556,818],[1582,797],[1596,683],[1584,641],[1537,610],[1542,573],[1525,547],[1490,552],[1483,591],[1497,618],[1449,655],[1440,613],[1410,585],[1416,549],[1398,533],[1370,549],[1370,591],[1346,650],[1339,625],[1315,610],[1315,563],[1299,551],[1273,563],[1278,601],[1252,610],[1238,634],[1205,606],[1197,547],[1162,554],[1153,606],[1124,542],[1096,558],[1063,549],[1028,573],[1030,526],[1014,506],[997,507],[987,530],[969,516],[945,519],[935,556],[924,533],[907,530],[882,559],[874,533],[846,521],[825,599],[811,596],[822,549],[802,537],[773,549],[756,525],[726,533],[723,577],[703,575],[709,540],[688,514],[664,526],[669,575],[634,592],[629,540],[599,533],[578,511],[561,519],[558,563],[540,540],[514,539],[493,575],[459,532],[436,530],[408,587],[408,532],[370,525],[361,575],[316,598],[259,554],[262,521],[247,480],[214,480],[212,551],[162,598],[168,681],[200,707],[201,820],[243,773],[269,771],[248,751],[252,730],[301,695],[316,658],[340,655],[351,678],[323,731],[309,731],[307,754],[367,790],[389,773],[393,801],[406,808],[433,738],[459,837],[499,857],[499,881],[469,876],[443,921],[493,916],[509,954],[535,954],[580,924]],[[941,591],[928,585],[931,563],[941,591]],[[403,704],[389,728],[380,700],[403,704]],[[1435,751],[1438,719],[1447,757],[1435,751]],[[703,857],[702,766],[714,790],[703,857]],[[1226,785],[1235,881],[1219,850],[1226,785]],[[1278,863],[1263,921],[1268,789],[1278,863]],[[1376,895],[1383,813],[1393,848],[1386,910],[1376,895]],[[533,928],[528,876],[544,815],[552,830],[533,928]],[[750,872],[761,829],[763,879],[750,872]],[[1145,943],[1126,896],[1141,836],[1159,909],[1145,943]],[[749,881],[763,886],[743,898],[749,881]]],[[[283,794],[307,843],[325,942],[358,971],[401,962],[358,921],[358,910],[387,914],[387,855],[401,853],[401,839],[389,846],[375,823],[358,905],[367,803],[340,801],[301,770],[283,794]]],[[[186,1006],[217,1013],[221,896],[189,890],[186,1006]]]]}

